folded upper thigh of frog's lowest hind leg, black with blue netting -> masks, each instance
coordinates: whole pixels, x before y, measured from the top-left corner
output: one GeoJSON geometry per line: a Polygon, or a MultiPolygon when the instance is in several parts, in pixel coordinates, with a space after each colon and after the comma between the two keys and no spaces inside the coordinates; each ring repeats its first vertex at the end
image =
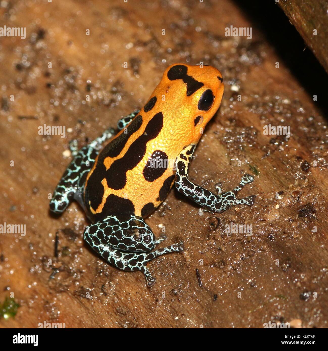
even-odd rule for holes
{"type": "Polygon", "coordinates": [[[86,227],[84,237],[96,251],[103,245],[126,252],[147,252],[156,243],[154,233],[145,221],[132,215],[107,217],[86,227]]]}

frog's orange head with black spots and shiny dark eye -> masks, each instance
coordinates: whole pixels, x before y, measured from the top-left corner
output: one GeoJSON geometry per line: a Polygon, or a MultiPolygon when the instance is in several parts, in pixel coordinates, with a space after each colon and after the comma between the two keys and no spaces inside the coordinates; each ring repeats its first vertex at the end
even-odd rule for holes
{"type": "Polygon", "coordinates": [[[223,79],[212,66],[169,66],[154,95],[161,99],[166,130],[179,144],[198,143],[203,130],[220,106],[223,79]]]}

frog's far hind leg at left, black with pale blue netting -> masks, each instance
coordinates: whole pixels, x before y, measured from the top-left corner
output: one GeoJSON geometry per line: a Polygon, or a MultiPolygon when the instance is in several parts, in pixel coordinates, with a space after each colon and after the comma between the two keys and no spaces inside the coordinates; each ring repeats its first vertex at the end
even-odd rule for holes
{"type": "Polygon", "coordinates": [[[70,142],[73,160],[66,168],[55,188],[49,204],[52,212],[62,213],[73,199],[79,200],[81,198],[81,187],[87,178],[88,172],[94,165],[101,144],[110,139],[114,133],[114,130],[109,128],[100,137],[87,146],[82,147],[79,151],[77,141],[72,140],[70,142]]]}

